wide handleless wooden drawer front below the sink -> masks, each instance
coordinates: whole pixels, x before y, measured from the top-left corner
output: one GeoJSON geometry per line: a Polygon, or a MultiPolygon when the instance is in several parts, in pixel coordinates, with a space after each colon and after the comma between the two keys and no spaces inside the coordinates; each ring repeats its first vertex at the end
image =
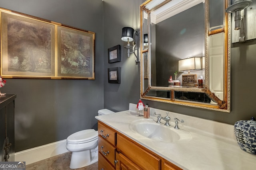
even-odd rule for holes
{"type": "Polygon", "coordinates": [[[117,134],[116,147],[118,151],[124,154],[128,159],[139,165],[142,169],[159,170],[161,160],[160,158],[150,154],[146,150],[138,147],[129,139],[117,134]]]}

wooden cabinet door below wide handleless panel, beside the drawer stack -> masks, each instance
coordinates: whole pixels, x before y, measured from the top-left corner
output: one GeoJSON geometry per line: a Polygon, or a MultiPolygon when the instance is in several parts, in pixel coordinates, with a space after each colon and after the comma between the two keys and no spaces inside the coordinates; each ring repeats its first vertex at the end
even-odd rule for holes
{"type": "Polygon", "coordinates": [[[116,164],[116,170],[142,170],[122,153],[116,153],[116,160],[118,161],[116,164]]]}

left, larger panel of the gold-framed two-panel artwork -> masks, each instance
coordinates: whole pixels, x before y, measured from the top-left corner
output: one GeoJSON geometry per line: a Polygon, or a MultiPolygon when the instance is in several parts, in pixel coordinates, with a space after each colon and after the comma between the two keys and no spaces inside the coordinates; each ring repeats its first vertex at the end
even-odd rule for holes
{"type": "Polygon", "coordinates": [[[1,12],[1,27],[1,76],[55,76],[54,24],[1,12]]]}

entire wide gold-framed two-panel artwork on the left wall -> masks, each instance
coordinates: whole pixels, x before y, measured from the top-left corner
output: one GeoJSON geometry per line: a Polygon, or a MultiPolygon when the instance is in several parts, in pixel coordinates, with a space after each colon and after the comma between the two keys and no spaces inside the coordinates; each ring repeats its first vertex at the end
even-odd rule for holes
{"type": "Polygon", "coordinates": [[[3,78],[95,79],[95,33],[0,8],[3,78]]]}

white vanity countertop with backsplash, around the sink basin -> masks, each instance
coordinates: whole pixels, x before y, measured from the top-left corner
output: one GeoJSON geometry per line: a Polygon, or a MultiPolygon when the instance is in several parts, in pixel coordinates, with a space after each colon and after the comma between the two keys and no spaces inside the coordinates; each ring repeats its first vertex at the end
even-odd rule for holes
{"type": "MultiPolygon", "coordinates": [[[[134,106],[136,105],[130,104],[130,107],[134,106]]],[[[165,116],[161,112],[162,110],[150,108],[150,119],[154,121],[156,121],[154,111],[161,113],[162,117],[165,116]]],[[[192,139],[189,141],[184,140],[167,143],[154,141],[138,133],[134,133],[129,128],[130,123],[135,120],[145,119],[137,115],[138,112],[135,109],[130,109],[108,115],[96,116],[96,119],[184,170],[256,169],[256,155],[240,149],[233,137],[232,125],[169,112],[169,116],[171,117],[170,128],[174,128],[174,117],[184,119],[184,124],[179,123],[179,130],[189,131],[192,139]],[[186,123],[186,121],[191,122],[186,123]],[[196,125],[195,127],[188,126],[193,124],[200,125],[202,129],[196,127],[196,125]],[[203,131],[204,129],[206,131],[203,131]],[[232,134],[230,135],[230,133],[232,134]]]]}

